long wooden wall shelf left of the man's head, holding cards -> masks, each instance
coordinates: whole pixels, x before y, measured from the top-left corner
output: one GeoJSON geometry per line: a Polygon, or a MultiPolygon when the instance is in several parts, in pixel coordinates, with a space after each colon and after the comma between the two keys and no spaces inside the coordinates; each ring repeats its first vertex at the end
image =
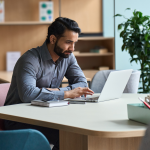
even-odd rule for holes
{"type": "Polygon", "coordinates": [[[16,22],[1,22],[0,25],[50,25],[52,22],[39,21],[16,21],[16,22]]]}

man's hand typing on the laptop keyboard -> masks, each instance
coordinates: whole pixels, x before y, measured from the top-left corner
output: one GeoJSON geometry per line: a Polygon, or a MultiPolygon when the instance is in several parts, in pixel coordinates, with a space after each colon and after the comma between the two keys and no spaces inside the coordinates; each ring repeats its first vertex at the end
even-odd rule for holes
{"type": "Polygon", "coordinates": [[[94,94],[94,92],[91,89],[89,89],[88,87],[85,87],[85,88],[78,87],[78,88],[75,88],[70,91],[65,91],[64,98],[76,98],[76,97],[80,97],[82,95],[84,95],[86,97],[86,95],[93,95],[93,94],[94,94]]]}

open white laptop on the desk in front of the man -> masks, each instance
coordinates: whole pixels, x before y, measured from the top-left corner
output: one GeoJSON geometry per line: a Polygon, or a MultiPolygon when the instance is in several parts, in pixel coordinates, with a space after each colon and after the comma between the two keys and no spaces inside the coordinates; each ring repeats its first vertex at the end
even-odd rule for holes
{"type": "Polygon", "coordinates": [[[68,101],[102,102],[120,98],[131,76],[132,69],[110,72],[103,90],[99,96],[87,96],[68,101]]]}

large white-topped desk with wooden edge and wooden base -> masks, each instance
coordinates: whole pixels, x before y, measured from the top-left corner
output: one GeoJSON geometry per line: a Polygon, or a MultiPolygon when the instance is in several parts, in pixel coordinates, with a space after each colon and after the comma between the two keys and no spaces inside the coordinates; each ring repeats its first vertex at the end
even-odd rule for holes
{"type": "Polygon", "coordinates": [[[124,94],[111,101],[53,108],[17,104],[1,107],[0,118],[59,129],[60,150],[137,150],[147,127],[128,120],[127,103],[140,103],[137,98],[124,94]]]}

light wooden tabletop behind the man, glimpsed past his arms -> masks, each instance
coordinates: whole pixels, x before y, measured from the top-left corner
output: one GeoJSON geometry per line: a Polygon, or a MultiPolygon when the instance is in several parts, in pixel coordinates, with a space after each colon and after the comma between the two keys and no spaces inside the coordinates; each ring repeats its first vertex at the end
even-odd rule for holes
{"type": "MultiPolygon", "coordinates": [[[[0,71],[0,80],[3,82],[11,82],[11,78],[12,78],[12,73],[13,72],[7,72],[7,71],[0,71]]],[[[87,81],[91,81],[90,78],[86,78],[87,81]]],[[[68,82],[68,79],[66,79],[65,77],[63,78],[62,82],[68,82]]]]}

